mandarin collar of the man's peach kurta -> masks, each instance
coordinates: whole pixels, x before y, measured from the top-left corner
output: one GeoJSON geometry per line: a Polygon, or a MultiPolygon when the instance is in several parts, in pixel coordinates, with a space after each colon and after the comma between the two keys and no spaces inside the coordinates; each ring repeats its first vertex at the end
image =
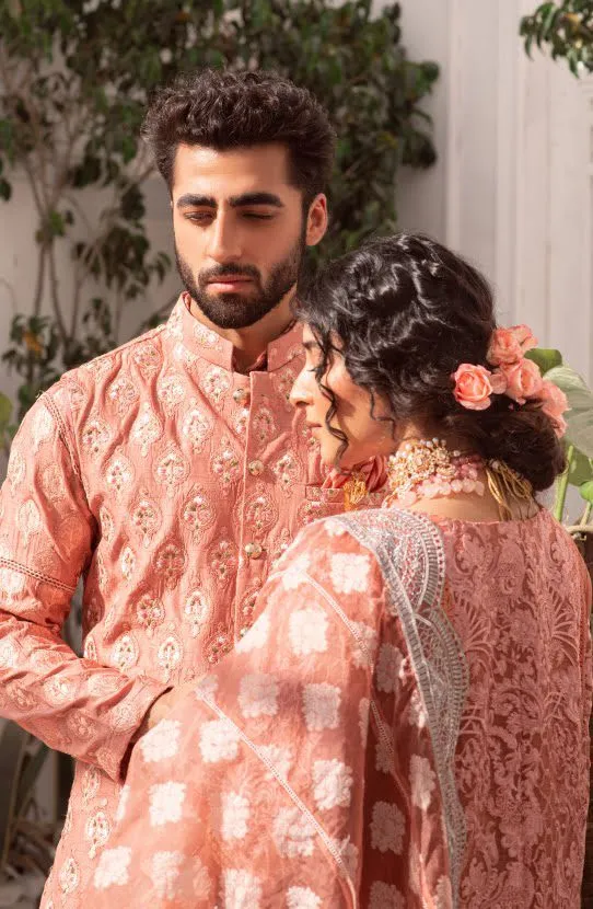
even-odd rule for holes
{"type": "MultiPolygon", "coordinates": [[[[202,325],[191,315],[186,297],[181,294],[165,324],[165,335],[181,344],[189,358],[199,356],[214,366],[233,372],[234,346],[225,337],[202,325]]],[[[267,371],[274,372],[302,355],[303,329],[296,323],[267,347],[267,371]]]]}

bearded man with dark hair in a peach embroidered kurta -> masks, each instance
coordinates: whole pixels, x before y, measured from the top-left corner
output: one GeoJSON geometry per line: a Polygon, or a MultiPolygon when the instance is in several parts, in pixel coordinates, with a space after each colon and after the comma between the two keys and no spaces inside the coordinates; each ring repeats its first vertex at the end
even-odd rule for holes
{"type": "Polygon", "coordinates": [[[146,135],[186,290],[166,325],[42,395],[0,504],[0,710],[78,759],[54,909],[79,905],[135,740],[244,634],[299,527],[342,508],[288,401],[290,301],[327,226],[325,112],[275,76],[206,71],[161,92],[146,135]],[[59,637],[81,575],[82,659],[59,637]]]}

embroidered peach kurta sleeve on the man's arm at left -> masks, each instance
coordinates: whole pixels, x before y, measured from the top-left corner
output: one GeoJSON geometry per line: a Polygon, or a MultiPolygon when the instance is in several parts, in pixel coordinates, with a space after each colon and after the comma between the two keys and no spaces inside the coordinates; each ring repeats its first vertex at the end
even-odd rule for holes
{"type": "Polygon", "coordinates": [[[51,390],[23,421],[0,491],[0,711],[117,780],[130,739],[166,687],[79,658],[60,637],[95,532],[51,390]]]}

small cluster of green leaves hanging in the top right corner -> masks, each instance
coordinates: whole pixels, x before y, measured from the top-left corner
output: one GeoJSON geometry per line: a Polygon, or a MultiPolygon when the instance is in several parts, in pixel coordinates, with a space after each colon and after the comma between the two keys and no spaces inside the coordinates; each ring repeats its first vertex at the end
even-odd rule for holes
{"type": "Polygon", "coordinates": [[[521,20],[520,33],[530,56],[534,44],[546,46],[554,59],[566,59],[574,76],[593,71],[592,0],[540,3],[521,20]]]}

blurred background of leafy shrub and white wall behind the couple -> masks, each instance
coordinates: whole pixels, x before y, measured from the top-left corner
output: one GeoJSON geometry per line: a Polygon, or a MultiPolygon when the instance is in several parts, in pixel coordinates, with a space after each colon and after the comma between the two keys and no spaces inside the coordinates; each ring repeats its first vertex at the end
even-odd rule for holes
{"type": "MultiPolygon", "coordinates": [[[[201,66],[276,69],[328,107],[339,142],[317,256],[422,230],[485,272],[503,323],[532,326],[573,406],[566,481],[581,496],[567,499],[565,483],[556,509],[570,523],[566,503],[584,503],[588,528],[593,2],[582,0],[0,0],[0,480],[39,392],[158,324],[178,294],[168,199],[139,128],[151,91],[201,66]]],[[[77,602],[65,633],[80,645],[77,602]]],[[[0,734],[0,906],[34,906],[71,768],[11,724],[0,734]]]]}

